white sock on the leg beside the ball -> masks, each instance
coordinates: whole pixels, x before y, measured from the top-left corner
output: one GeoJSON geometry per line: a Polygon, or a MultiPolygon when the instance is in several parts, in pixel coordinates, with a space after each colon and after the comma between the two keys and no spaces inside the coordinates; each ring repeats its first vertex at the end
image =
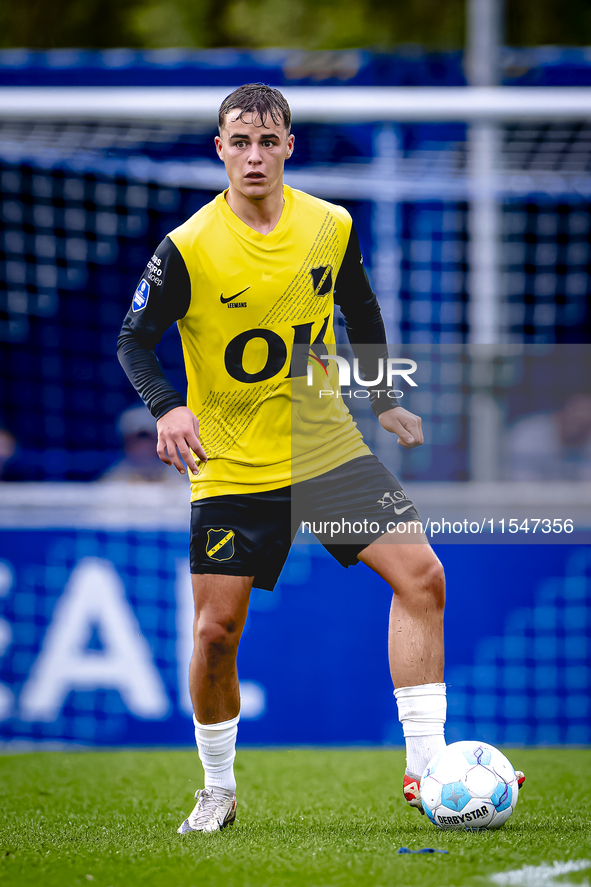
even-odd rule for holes
{"type": "Polygon", "coordinates": [[[445,684],[418,684],[394,690],[406,740],[406,769],[422,776],[431,758],[445,748],[445,684]]]}

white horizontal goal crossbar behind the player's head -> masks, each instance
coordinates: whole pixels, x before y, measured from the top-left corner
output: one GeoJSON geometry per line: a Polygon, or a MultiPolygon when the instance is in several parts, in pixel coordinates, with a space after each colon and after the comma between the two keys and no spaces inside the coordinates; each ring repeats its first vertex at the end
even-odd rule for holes
{"type": "MultiPolygon", "coordinates": [[[[591,87],[298,86],[281,88],[301,122],[573,120],[591,117],[591,87]]],[[[215,123],[232,87],[3,87],[13,119],[215,123]]]]}

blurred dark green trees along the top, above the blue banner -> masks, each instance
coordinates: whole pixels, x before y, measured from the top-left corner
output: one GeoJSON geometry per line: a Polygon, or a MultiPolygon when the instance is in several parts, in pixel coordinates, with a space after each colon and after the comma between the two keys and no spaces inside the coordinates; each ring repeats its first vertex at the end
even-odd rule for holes
{"type": "MultiPolygon", "coordinates": [[[[464,45],[467,0],[2,0],[0,46],[427,49],[464,45]]],[[[512,46],[591,45],[591,0],[506,0],[512,46]]]]}

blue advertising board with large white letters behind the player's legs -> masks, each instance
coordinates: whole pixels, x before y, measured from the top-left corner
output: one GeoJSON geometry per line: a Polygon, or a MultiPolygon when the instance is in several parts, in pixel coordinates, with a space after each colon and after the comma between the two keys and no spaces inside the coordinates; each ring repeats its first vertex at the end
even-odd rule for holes
{"type": "MultiPolygon", "coordinates": [[[[187,536],[0,531],[0,740],[192,741],[187,536]]],[[[591,741],[591,551],[441,545],[453,741],[591,741]]],[[[387,659],[388,590],[295,545],[254,590],[240,654],[242,744],[403,742],[387,659]]]]}

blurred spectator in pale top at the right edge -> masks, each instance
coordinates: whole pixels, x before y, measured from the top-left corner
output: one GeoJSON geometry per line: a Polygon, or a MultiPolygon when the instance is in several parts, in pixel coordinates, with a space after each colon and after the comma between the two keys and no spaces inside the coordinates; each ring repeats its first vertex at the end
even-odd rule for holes
{"type": "Polygon", "coordinates": [[[535,413],[508,431],[510,480],[591,480],[591,394],[571,394],[552,413],[535,413]]]}

